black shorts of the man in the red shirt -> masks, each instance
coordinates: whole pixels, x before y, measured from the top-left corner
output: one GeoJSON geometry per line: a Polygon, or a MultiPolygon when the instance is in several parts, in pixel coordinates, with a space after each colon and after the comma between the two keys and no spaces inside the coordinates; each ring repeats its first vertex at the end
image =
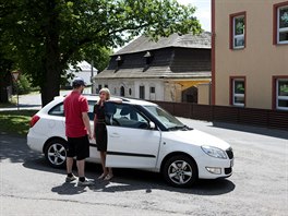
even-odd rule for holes
{"type": "Polygon", "coordinates": [[[68,137],[68,157],[76,157],[76,160],[82,160],[89,157],[89,140],[88,136],[68,137]]]}

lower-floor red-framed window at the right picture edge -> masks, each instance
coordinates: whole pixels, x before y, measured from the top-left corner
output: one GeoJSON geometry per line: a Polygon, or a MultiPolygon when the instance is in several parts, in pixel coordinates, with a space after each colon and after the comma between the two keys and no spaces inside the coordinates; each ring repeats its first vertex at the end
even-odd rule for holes
{"type": "Polygon", "coordinates": [[[288,110],[288,79],[276,80],[276,109],[288,110]]]}

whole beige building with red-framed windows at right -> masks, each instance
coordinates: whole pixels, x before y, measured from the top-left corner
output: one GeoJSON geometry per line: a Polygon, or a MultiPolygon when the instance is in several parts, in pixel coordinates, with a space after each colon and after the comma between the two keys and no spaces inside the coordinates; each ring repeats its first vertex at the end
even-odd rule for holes
{"type": "Polygon", "coordinates": [[[288,1],[212,0],[212,104],[288,110],[288,1]]]}

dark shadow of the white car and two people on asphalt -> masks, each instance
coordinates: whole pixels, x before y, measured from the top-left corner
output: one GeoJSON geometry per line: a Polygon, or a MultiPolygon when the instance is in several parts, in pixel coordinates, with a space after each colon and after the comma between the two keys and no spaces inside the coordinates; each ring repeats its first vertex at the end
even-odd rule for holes
{"type": "MultiPolygon", "coordinates": [[[[28,169],[65,175],[65,170],[49,167],[45,158],[36,158],[26,160],[23,166],[28,169]]],[[[76,172],[76,168],[74,168],[76,172]]],[[[110,181],[97,179],[101,173],[101,167],[98,164],[86,163],[86,177],[94,180],[94,185],[77,187],[76,181],[71,183],[61,183],[51,189],[52,192],[60,195],[74,195],[89,190],[95,192],[124,192],[144,190],[146,193],[152,193],[154,190],[165,190],[179,193],[194,195],[221,195],[235,190],[236,185],[228,179],[219,180],[199,180],[191,188],[175,188],[168,185],[160,173],[137,170],[113,168],[115,177],[110,181]]]]}

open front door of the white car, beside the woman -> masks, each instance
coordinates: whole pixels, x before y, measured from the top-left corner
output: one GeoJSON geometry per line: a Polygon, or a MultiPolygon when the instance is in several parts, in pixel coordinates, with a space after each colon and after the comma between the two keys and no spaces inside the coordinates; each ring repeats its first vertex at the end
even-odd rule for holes
{"type": "Polygon", "coordinates": [[[134,106],[105,103],[108,147],[106,166],[154,168],[157,163],[160,131],[134,106]]]}

